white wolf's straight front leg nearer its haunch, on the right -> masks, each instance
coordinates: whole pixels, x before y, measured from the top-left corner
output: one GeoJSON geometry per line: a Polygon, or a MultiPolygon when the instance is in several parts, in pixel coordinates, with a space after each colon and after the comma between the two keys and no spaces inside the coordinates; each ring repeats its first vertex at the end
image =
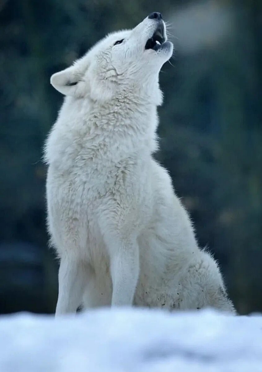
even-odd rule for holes
{"type": "Polygon", "coordinates": [[[110,261],[113,283],[111,305],[131,306],[139,277],[139,247],[136,241],[111,247],[110,261]]]}

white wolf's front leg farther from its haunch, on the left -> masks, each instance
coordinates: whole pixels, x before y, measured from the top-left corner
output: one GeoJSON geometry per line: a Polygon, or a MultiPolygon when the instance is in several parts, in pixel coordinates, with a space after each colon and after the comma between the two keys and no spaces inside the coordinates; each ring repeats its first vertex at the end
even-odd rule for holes
{"type": "Polygon", "coordinates": [[[58,301],[55,316],[76,312],[81,303],[84,286],[91,275],[91,268],[83,262],[63,257],[58,273],[58,301]]]}

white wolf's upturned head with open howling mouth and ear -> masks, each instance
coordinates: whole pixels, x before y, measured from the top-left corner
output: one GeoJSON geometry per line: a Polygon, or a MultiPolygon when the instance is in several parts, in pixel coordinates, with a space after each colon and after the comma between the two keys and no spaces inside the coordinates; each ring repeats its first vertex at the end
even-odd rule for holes
{"type": "Polygon", "coordinates": [[[67,96],[102,102],[132,89],[148,90],[145,94],[153,89],[161,101],[158,74],[172,52],[165,23],[155,12],[132,30],[107,35],[71,67],[52,75],[51,84],[67,96]]]}

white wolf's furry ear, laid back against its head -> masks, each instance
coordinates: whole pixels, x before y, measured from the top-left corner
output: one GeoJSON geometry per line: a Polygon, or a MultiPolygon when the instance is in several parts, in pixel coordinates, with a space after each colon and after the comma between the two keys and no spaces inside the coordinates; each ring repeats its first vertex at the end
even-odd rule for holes
{"type": "Polygon", "coordinates": [[[66,68],[51,76],[50,83],[65,96],[81,95],[79,83],[82,81],[83,73],[76,65],[66,68]]]}

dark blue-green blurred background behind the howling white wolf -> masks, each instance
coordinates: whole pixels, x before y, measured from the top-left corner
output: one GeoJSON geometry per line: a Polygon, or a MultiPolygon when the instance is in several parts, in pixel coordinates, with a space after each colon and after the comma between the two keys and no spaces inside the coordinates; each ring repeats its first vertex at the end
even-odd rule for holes
{"type": "Polygon", "coordinates": [[[0,0],[1,313],[55,310],[42,149],[63,97],[50,76],[153,11],[175,44],[156,157],[239,313],[262,311],[262,1],[0,0]]]}

